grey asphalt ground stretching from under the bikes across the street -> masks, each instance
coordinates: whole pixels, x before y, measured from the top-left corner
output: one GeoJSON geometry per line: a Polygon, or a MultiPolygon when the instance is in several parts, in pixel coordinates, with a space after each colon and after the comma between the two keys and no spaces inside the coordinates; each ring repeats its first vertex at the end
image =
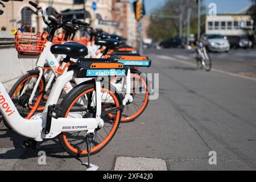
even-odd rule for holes
{"type": "MultiPolygon", "coordinates": [[[[256,51],[212,53],[212,72],[195,69],[192,51],[145,54],[153,63],[142,71],[159,73],[159,98],[135,122],[122,124],[92,163],[111,170],[117,156],[129,156],[163,159],[170,170],[255,170],[256,51]],[[217,165],[209,164],[210,151],[216,152],[217,165]]],[[[23,149],[22,140],[0,123],[0,169],[85,169],[57,139],[40,143],[38,150],[47,154],[40,166],[38,151],[23,149]]]]}

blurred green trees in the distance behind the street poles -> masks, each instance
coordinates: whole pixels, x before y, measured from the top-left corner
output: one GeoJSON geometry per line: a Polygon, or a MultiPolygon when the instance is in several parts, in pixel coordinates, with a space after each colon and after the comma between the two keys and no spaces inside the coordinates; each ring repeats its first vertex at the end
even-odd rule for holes
{"type": "MultiPolygon", "coordinates": [[[[186,35],[187,28],[187,14],[188,9],[192,9],[191,14],[191,34],[197,34],[197,3],[192,0],[167,0],[164,6],[156,9],[155,19],[151,19],[150,27],[148,28],[148,35],[154,42],[160,42],[170,37],[179,36],[179,19],[160,18],[159,15],[183,15],[183,35],[186,35]]],[[[201,10],[205,7],[202,4],[201,10]]],[[[202,32],[205,30],[205,16],[201,18],[202,32]]]]}

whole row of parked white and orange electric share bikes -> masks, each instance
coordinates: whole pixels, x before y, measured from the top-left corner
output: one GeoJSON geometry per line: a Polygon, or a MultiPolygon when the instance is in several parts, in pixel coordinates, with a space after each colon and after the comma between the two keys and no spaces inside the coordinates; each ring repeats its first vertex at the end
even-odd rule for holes
{"type": "Polygon", "coordinates": [[[6,127],[36,141],[59,137],[68,154],[97,154],[114,137],[120,122],[131,122],[148,105],[150,82],[138,67],[151,60],[126,45],[118,35],[95,31],[81,20],[61,20],[57,12],[46,19],[39,5],[29,2],[47,31],[29,26],[13,30],[19,58],[38,57],[7,93],[0,83],[0,110],[6,127]],[[57,30],[62,30],[57,34],[57,30]],[[79,31],[84,36],[76,38],[79,31]]]}

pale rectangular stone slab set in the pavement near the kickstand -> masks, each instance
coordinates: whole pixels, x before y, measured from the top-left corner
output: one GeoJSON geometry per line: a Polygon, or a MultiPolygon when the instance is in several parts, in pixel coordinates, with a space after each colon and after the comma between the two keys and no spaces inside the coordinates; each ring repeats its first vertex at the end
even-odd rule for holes
{"type": "Polygon", "coordinates": [[[167,164],[163,159],[120,156],[115,159],[114,171],[167,171],[167,164]]]}

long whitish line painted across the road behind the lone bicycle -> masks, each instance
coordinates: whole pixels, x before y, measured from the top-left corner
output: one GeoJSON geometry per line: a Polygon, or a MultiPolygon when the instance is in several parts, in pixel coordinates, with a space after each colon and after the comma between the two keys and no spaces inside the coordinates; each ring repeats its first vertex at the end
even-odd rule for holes
{"type": "MultiPolygon", "coordinates": [[[[188,63],[187,61],[176,60],[174,57],[164,56],[164,55],[157,55],[156,57],[159,57],[160,59],[171,60],[171,61],[174,61],[174,62],[176,62],[176,63],[182,63],[182,64],[190,65],[190,66],[192,66],[192,67],[196,67],[196,64],[188,63]]],[[[236,73],[230,73],[230,72],[222,71],[222,70],[220,70],[220,69],[212,68],[212,71],[213,71],[213,72],[217,72],[217,73],[222,73],[222,74],[225,74],[225,75],[229,75],[229,76],[244,78],[244,79],[246,79],[246,80],[256,81],[256,78],[247,77],[247,76],[242,76],[242,75],[238,75],[238,74],[236,74],[236,73]]]]}

